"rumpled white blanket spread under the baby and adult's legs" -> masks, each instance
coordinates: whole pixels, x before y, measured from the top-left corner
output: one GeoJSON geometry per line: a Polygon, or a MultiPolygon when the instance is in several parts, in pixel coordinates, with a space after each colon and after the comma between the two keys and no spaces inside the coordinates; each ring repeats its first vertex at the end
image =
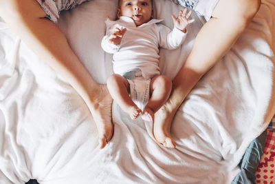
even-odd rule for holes
{"type": "MultiPolygon", "coordinates": [[[[100,41],[104,19],[115,18],[116,6],[89,1],[59,21],[100,83],[112,70],[100,41]]],[[[155,0],[155,17],[170,28],[170,14],[180,9],[155,0]]],[[[233,48],[187,96],[171,127],[175,149],[159,145],[150,123],[131,121],[113,103],[115,132],[100,150],[84,101],[0,21],[0,183],[230,183],[246,147],[275,112],[274,12],[274,1],[263,1],[233,48]]],[[[171,78],[201,28],[201,19],[192,17],[183,47],[160,52],[162,72],[171,78]]]]}

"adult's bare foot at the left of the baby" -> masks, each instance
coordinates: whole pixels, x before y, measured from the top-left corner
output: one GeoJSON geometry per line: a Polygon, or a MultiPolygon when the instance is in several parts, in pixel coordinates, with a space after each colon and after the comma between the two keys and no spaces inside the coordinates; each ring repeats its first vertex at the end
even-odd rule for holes
{"type": "Polygon", "coordinates": [[[93,100],[93,105],[90,110],[98,127],[98,141],[102,149],[109,143],[113,136],[113,123],[111,122],[111,105],[113,99],[106,85],[100,85],[100,91],[97,93],[96,99],[93,100]]]}

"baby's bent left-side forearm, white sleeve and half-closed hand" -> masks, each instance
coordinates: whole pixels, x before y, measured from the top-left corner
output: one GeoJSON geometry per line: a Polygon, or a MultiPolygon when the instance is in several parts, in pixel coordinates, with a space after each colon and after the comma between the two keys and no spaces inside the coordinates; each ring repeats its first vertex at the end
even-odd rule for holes
{"type": "Polygon", "coordinates": [[[125,32],[126,28],[123,30],[115,28],[113,33],[105,35],[101,42],[102,49],[110,54],[117,52],[120,48],[120,43],[125,32]]]}

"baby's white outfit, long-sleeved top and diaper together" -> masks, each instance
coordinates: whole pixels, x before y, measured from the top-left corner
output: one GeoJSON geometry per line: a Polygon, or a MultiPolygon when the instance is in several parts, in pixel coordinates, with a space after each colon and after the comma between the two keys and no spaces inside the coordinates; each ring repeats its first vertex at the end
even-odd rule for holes
{"type": "Polygon", "coordinates": [[[113,72],[128,79],[131,97],[141,110],[148,102],[150,80],[159,74],[159,47],[173,50],[186,38],[186,33],[177,28],[171,31],[165,25],[157,24],[160,21],[152,19],[140,26],[129,17],[105,21],[107,33],[102,39],[102,49],[113,54],[113,72]],[[126,28],[120,45],[109,41],[116,28],[126,28]]]}

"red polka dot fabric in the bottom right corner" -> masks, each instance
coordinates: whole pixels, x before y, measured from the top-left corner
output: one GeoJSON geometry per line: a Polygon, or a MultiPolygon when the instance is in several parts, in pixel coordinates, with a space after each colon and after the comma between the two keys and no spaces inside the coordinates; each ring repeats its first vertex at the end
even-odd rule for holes
{"type": "Polygon", "coordinates": [[[267,130],[265,150],[256,171],[256,183],[275,184],[275,131],[267,130]]]}

